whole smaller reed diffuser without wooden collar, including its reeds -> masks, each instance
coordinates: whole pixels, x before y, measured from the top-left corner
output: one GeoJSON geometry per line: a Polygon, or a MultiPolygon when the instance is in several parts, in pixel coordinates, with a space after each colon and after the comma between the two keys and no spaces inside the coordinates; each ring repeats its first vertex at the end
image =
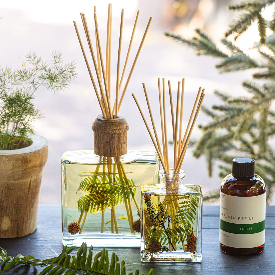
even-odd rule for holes
{"type": "MultiPolygon", "coordinates": [[[[158,79],[158,83],[160,91],[160,79],[158,79]]],[[[201,262],[202,190],[199,185],[188,185],[184,183],[185,172],[180,168],[204,99],[204,89],[201,92],[200,88],[197,93],[196,101],[188,121],[188,126],[183,138],[181,138],[184,79],[181,94],[181,84],[178,82],[175,120],[172,104],[172,90],[170,81],[168,81],[174,136],[174,169],[169,169],[164,83],[163,79],[163,106],[161,103],[161,93],[159,93],[163,149],[161,149],[156,132],[145,85],[143,84],[143,88],[152,120],[155,138],[150,131],[136,97],[133,95],[163,166],[163,170],[159,172],[159,184],[142,186],[141,261],[201,262]],[[178,131],[178,129],[180,130],[178,131]]]]}

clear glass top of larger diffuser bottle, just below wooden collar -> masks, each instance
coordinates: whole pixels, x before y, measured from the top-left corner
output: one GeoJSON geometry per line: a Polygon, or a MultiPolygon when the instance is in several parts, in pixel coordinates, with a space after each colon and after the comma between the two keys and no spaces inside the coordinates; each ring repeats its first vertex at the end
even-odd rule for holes
{"type": "MultiPolygon", "coordinates": [[[[61,162],[72,164],[102,164],[106,157],[95,155],[94,150],[67,151],[62,155],[61,162]]],[[[108,163],[150,163],[159,164],[158,154],[153,151],[129,150],[120,157],[110,157],[108,163]]]]}

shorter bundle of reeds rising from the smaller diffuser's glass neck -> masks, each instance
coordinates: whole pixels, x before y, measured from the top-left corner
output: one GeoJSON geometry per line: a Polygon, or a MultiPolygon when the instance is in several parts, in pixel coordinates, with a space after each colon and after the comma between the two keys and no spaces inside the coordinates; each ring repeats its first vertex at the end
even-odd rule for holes
{"type": "MultiPolygon", "coordinates": [[[[174,144],[174,167],[173,167],[173,174],[178,174],[180,172],[180,168],[182,167],[183,159],[191,138],[191,134],[196,122],[196,119],[198,117],[200,108],[202,106],[202,102],[204,100],[204,90],[201,87],[199,87],[199,90],[197,92],[197,97],[194,102],[188,124],[185,130],[185,133],[182,138],[182,120],[183,120],[183,98],[184,98],[184,84],[185,79],[182,79],[182,84],[180,81],[178,81],[178,89],[177,89],[177,103],[176,103],[176,113],[174,114],[174,107],[173,107],[173,101],[172,101],[172,90],[171,90],[171,83],[170,80],[168,80],[168,89],[169,89],[169,97],[170,97],[170,108],[171,108],[171,117],[172,117],[172,127],[173,127],[173,144],[174,144]]],[[[144,123],[146,125],[146,128],[150,134],[150,137],[153,141],[153,144],[155,146],[155,149],[158,153],[158,156],[160,158],[161,164],[163,166],[163,170],[166,174],[170,174],[169,172],[169,159],[168,159],[168,141],[167,141],[167,119],[166,119],[166,90],[165,90],[165,79],[162,79],[162,93],[161,93],[161,81],[160,78],[158,78],[158,94],[159,94],[159,101],[160,101],[160,121],[161,121],[161,137],[162,137],[162,150],[160,145],[160,140],[158,138],[158,134],[156,131],[156,126],[152,114],[152,110],[149,103],[148,94],[145,88],[145,84],[142,83],[144,94],[146,97],[146,102],[153,126],[153,131],[155,134],[155,139],[153,137],[153,134],[150,130],[150,127],[145,119],[145,116],[141,110],[141,107],[138,103],[138,100],[136,99],[134,93],[132,93],[132,96],[136,102],[136,105],[138,106],[138,109],[141,113],[142,119],[144,120],[144,123]],[[161,96],[162,94],[162,96],[161,96]]]]}

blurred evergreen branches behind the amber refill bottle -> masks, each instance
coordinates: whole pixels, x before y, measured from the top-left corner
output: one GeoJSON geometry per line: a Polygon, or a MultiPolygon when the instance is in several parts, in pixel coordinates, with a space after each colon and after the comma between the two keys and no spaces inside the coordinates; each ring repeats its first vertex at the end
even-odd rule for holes
{"type": "MultiPolygon", "coordinates": [[[[272,107],[275,99],[275,13],[271,22],[268,22],[263,18],[262,12],[265,8],[270,9],[274,2],[275,0],[250,0],[230,4],[230,10],[242,13],[229,25],[220,45],[216,45],[197,29],[196,36],[191,39],[175,34],[165,34],[175,41],[192,46],[197,54],[219,58],[216,68],[221,73],[253,68],[252,77],[262,80],[260,84],[251,80],[243,81],[242,85],[249,93],[248,96],[233,97],[215,91],[222,103],[213,105],[212,110],[207,107],[202,108],[210,117],[210,122],[199,125],[203,135],[194,146],[194,156],[196,158],[205,156],[210,176],[215,163],[219,163],[221,178],[232,171],[234,157],[254,158],[255,171],[264,177],[266,183],[267,203],[271,201],[275,189],[273,172],[275,171],[275,151],[270,142],[275,134],[275,112],[272,107]],[[258,23],[260,42],[251,45],[251,48],[258,51],[261,59],[257,60],[248,53],[244,53],[234,42],[234,39],[242,35],[254,21],[258,23]],[[268,37],[266,37],[267,28],[273,32],[268,37]],[[258,72],[255,72],[255,69],[258,72]]],[[[204,200],[208,201],[218,198],[218,189],[204,196],[204,200]]]]}

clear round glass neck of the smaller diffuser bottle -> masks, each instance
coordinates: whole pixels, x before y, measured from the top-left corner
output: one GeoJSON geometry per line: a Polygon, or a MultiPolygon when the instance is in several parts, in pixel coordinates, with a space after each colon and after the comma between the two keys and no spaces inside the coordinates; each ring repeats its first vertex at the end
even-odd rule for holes
{"type": "Polygon", "coordinates": [[[173,169],[169,169],[170,174],[166,174],[163,169],[159,171],[158,175],[160,178],[161,188],[165,188],[167,192],[177,191],[182,188],[183,178],[185,177],[185,172],[180,170],[178,174],[173,174],[173,169]]]}

